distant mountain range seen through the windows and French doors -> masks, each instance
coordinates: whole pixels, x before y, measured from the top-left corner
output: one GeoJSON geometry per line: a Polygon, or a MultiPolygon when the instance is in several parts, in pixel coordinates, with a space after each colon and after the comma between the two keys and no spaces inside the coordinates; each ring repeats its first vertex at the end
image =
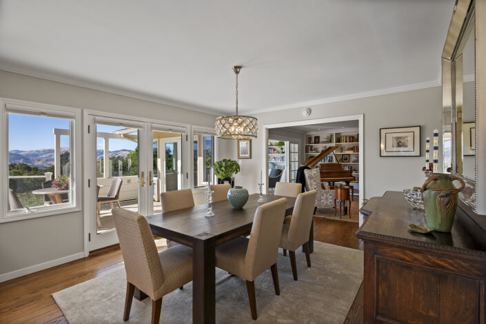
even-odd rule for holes
{"type": "MultiPolygon", "coordinates": [[[[61,154],[68,152],[69,148],[61,148],[61,154]]],[[[110,157],[125,157],[132,150],[115,150],[110,151],[110,157]]],[[[97,150],[97,160],[103,157],[103,150],[97,150]]],[[[8,152],[9,163],[26,163],[30,166],[35,166],[39,169],[48,168],[54,165],[54,149],[45,148],[41,150],[11,150],[8,152]]]]}

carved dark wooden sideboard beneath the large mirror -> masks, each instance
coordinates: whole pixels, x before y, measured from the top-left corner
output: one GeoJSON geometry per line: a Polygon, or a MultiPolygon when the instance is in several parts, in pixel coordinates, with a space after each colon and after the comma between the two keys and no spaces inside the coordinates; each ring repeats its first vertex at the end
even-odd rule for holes
{"type": "Polygon", "coordinates": [[[402,192],[372,198],[361,212],[364,323],[486,323],[486,232],[463,209],[450,234],[425,235],[407,231],[425,225],[425,213],[402,192]]]}

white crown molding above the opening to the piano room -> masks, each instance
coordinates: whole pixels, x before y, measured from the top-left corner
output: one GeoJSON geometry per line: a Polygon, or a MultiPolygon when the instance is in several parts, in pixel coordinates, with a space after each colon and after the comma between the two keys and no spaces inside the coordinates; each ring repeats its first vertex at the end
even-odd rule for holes
{"type": "Polygon", "coordinates": [[[412,90],[434,88],[434,87],[440,86],[441,84],[442,84],[441,79],[437,79],[437,80],[429,81],[429,82],[414,83],[414,84],[409,84],[409,85],[401,85],[399,87],[394,87],[394,88],[372,90],[372,91],[367,91],[367,92],[358,92],[358,93],[355,93],[355,94],[345,94],[343,96],[338,96],[338,97],[329,97],[329,98],[318,99],[318,100],[314,100],[314,101],[303,101],[303,102],[300,102],[300,103],[291,103],[290,105],[279,105],[279,106],[275,106],[275,107],[256,109],[256,110],[251,110],[250,112],[245,112],[245,113],[246,114],[260,114],[262,112],[274,112],[276,110],[312,107],[312,106],[315,106],[315,105],[322,105],[324,103],[334,103],[334,102],[338,102],[338,101],[347,101],[347,100],[353,100],[353,99],[382,96],[383,94],[393,94],[393,93],[398,93],[398,92],[407,92],[407,91],[412,91],[412,90]]]}

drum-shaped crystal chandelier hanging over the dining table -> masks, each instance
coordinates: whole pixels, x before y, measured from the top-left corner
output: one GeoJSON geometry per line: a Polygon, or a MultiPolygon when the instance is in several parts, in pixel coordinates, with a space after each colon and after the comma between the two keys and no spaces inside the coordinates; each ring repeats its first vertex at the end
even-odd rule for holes
{"type": "Polygon", "coordinates": [[[236,74],[236,114],[216,118],[216,135],[221,139],[254,139],[259,133],[256,118],[238,115],[238,74],[241,66],[234,66],[236,74]]]}

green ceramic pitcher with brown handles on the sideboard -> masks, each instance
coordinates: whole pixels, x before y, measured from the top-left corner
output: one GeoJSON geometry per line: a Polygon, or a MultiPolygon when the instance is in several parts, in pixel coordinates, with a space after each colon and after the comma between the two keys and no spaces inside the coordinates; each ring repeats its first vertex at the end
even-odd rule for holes
{"type": "Polygon", "coordinates": [[[456,216],[458,195],[465,187],[463,179],[445,173],[433,173],[422,185],[427,225],[438,232],[449,233],[456,216]],[[452,181],[462,183],[456,188],[452,181]]]}

